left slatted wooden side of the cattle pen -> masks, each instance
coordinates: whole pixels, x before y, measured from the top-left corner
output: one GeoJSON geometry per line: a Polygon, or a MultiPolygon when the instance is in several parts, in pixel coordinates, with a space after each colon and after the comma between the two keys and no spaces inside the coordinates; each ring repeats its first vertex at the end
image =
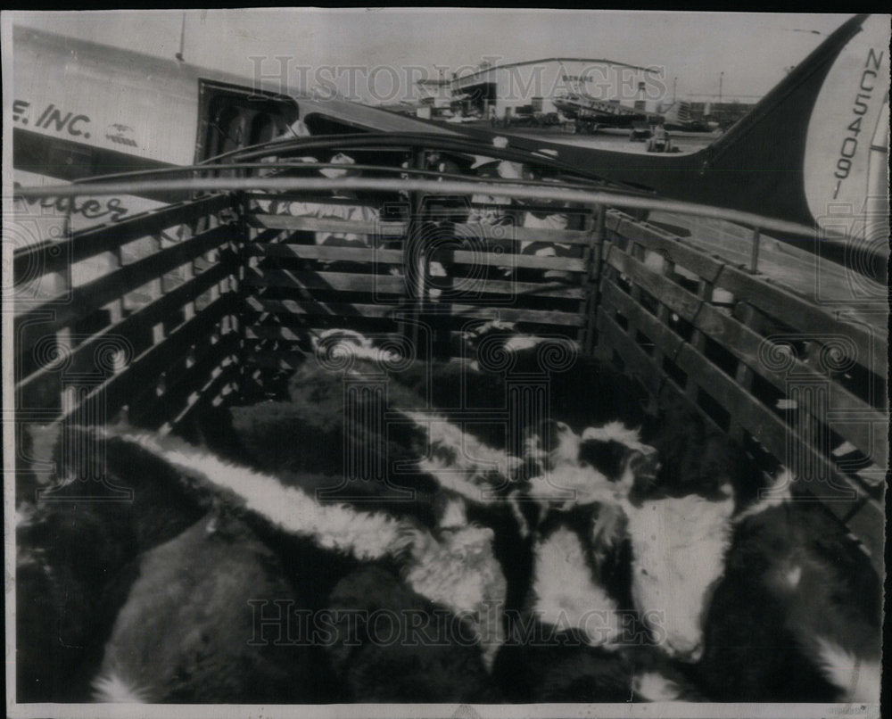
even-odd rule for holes
{"type": "Polygon", "coordinates": [[[232,209],[226,195],[179,202],[15,252],[17,424],[101,424],[126,406],[137,425],[173,426],[231,393],[244,236],[232,209]],[[78,262],[94,277],[75,285],[78,262]],[[26,292],[47,278],[50,291],[26,292]]]}

